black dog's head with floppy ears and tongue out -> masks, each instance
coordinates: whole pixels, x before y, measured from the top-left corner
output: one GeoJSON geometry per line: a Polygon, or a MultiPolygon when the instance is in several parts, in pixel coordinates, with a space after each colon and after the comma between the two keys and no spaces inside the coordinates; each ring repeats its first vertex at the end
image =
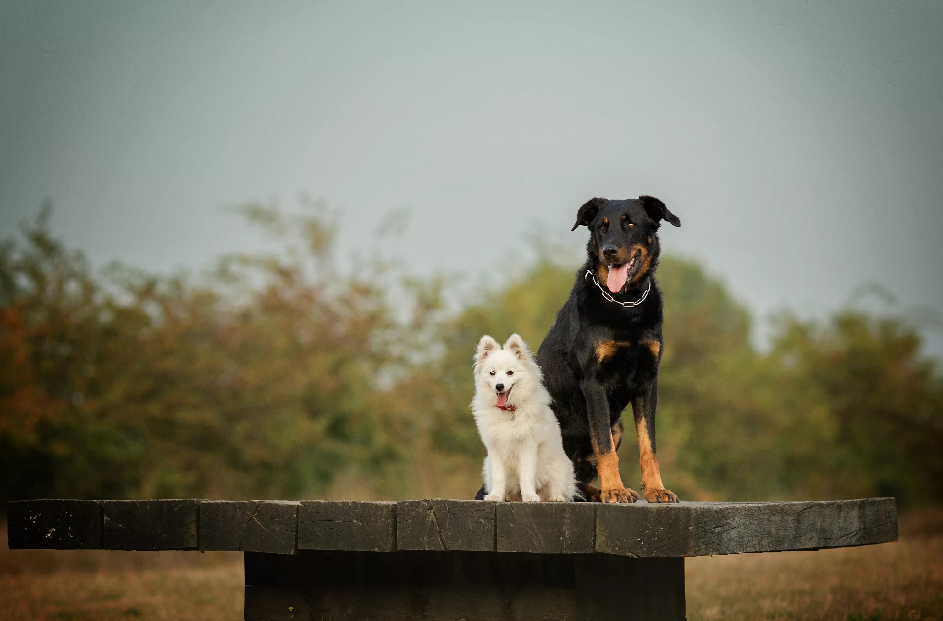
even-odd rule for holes
{"type": "Polygon", "coordinates": [[[576,212],[576,224],[591,233],[587,251],[593,273],[612,293],[625,292],[657,263],[661,221],[681,226],[678,216],[653,196],[627,200],[593,198],[576,212]]]}

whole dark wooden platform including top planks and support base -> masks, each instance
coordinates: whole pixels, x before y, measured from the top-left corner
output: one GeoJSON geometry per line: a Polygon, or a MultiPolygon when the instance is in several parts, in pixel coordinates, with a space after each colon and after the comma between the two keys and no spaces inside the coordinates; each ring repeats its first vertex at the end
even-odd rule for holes
{"type": "Polygon", "coordinates": [[[685,618],[684,557],[897,540],[893,498],[22,500],[10,548],[245,552],[245,618],[685,618]]]}

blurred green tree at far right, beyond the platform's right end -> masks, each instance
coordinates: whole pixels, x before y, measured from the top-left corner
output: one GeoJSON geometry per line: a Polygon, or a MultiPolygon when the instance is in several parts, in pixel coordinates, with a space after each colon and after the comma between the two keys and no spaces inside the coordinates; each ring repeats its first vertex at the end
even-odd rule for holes
{"type": "Polygon", "coordinates": [[[943,499],[943,380],[919,348],[917,329],[896,317],[845,310],[828,322],[781,318],[772,353],[779,385],[812,395],[833,428],[815,460],[827,494],[943,499]]]}

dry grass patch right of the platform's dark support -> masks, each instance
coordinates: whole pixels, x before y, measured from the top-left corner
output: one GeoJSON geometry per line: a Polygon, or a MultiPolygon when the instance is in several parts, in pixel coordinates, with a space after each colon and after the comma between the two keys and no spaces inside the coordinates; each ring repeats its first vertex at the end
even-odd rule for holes
{"type": "Polygon", "coordinates": [[[943,619],[943,537],[685,562],[687,618],[943,619]]]}

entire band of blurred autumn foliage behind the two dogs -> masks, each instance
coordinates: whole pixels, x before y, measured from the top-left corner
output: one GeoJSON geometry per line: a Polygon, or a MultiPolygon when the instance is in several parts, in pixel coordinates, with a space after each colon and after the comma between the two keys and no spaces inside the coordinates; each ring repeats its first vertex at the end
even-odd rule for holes
{"type": "MultiPolygon", "coordinates": [[[[50,236],[48,210],[0,245],[2,499],[472,494],[474,345],[520,332],[536,349],[572,266],[544,252],[450,312],[441,281],[398,286],[382,256],[373,280],[346,274],[331,214],[308,207],[242,208],[283,251],[225,257],[199,280],[95,275],[50,236]]],[[[674,258],[658,274],[658,455],[675,492],[943,499],[943,380],[914,327],[786,314],[759,352],[720,281],[674,258]]]]}

